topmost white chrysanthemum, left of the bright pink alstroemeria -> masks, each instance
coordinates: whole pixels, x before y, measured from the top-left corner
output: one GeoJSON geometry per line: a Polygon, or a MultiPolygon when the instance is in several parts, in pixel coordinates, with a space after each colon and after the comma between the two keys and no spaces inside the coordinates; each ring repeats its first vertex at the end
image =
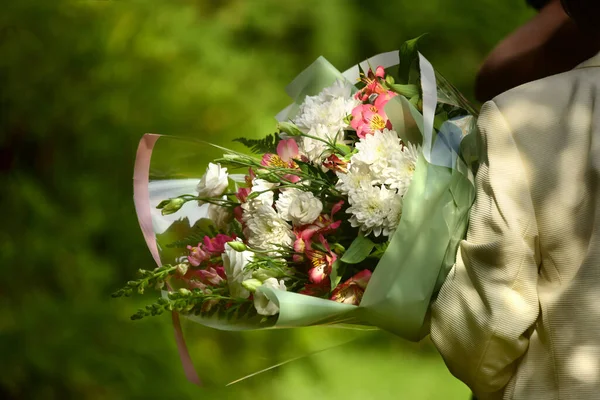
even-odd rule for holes
{"type": "Polygon", "coordinates": [[[306,96],[294,123],[304,133],[323,125],[331,135],[348,127],[344,120],[360,102],[352,96],[352,86],[336,81],[316,96],[306,96]]]}

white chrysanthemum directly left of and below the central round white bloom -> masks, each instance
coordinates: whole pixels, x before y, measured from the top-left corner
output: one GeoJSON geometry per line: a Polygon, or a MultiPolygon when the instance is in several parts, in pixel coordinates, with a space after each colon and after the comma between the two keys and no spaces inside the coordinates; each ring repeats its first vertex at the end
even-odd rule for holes
{"type": "Polygon", "coordinates": [[[281,246],[291,248],[294,234],[290,225],[271,205],[250,201],[244,208],[242,218],[245,223],[244,235],[250,247],[258,250],[278,250],[281,246]]]}

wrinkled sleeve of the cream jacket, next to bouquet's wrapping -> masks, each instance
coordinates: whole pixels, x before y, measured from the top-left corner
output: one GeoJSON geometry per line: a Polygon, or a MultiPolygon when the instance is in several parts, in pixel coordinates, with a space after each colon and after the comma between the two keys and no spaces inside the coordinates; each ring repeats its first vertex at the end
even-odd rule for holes
{"type": "Polygon", "coordinates": [[[495,103],[484,104],[479,130],[476,200],[432,306],[431,338],[478,398],[500,399],[538,317],[538,232],[521,155],[495,103]]]}

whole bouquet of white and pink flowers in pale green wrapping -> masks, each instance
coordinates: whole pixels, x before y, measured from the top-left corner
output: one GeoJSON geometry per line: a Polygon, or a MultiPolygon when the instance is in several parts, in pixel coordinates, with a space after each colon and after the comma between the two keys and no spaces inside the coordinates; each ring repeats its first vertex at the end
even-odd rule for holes
{"type": "Polygon", "coordinates": [[[115,296],[162,295],[132,318],[426,335],[474,200],[476,111],[417,42],[344,73],[317,59],[275,134],[236,139],[249,152],[146,135],[135,202],[159,266],[115,296]]]}

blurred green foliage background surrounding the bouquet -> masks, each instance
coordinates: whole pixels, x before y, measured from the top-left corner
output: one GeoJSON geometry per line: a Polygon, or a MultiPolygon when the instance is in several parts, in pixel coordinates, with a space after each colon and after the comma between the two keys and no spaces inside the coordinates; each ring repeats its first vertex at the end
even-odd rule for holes
{"type": "MultiPolygon", "coordinates": [[[[429,342],[335,329],[222,333],[110,293],[151,268],[132,202],[145,132],[271,133],[284,86],[319,55],[345,69],[429,32],[422,52],[472,98],[524,0],[10,1],[0,13],[0,398],[467,399],[429,342]]],[[[198,163],[207,160],[198,159],[198,163]]]]}

